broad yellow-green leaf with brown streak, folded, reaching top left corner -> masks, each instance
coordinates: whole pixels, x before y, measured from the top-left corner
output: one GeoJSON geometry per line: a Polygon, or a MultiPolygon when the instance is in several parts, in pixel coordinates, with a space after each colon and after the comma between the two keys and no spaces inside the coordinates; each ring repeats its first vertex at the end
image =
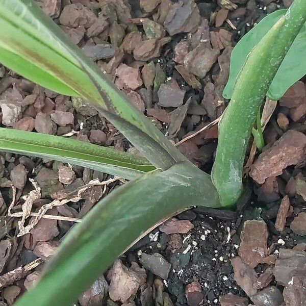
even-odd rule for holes
{"type": "Polygon", "coordinates": [[[33,1],[1,0],[0,29],[0,62],[49,89],[88,100],[156,167],[186,160],[33,1]]]}

